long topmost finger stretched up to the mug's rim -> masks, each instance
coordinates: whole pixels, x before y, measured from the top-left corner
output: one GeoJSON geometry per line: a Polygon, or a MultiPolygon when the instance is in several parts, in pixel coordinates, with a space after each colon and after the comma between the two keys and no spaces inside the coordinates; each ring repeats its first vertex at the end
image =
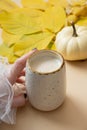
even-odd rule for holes
{"type": "Polygon", "coordinates": [[[20,76],[22,70],[26,65],[27,59],[36,52],[37,49],[30,51],[29,53],[25,54],[24,56],[20,57],[11,67],[11,71],[8,75],[8,80],[11,84],[14,84],[17,78],[20,76]]]}

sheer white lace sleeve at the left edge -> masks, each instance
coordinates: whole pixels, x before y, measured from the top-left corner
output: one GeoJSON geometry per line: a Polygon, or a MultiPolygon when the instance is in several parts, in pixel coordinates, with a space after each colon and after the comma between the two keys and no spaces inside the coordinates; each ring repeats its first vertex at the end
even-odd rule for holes
{"type": "Polygon", "coordinates": [[[7,58],[0,56],[0,122],[15,124],[16,109],[12,108],[14,91],[6,77],[7,58]]]}

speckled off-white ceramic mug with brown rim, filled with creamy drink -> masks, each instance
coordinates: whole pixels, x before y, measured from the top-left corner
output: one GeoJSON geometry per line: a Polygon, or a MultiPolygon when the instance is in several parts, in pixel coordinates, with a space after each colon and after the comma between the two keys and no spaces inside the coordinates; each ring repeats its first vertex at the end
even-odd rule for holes
{"type": "Polygon", "coordinates": [[[63,57],[56,51],[33,53],[26,64],[26,90],[33,107],[42,111],[58,108],[66,96],[63,57]]]}

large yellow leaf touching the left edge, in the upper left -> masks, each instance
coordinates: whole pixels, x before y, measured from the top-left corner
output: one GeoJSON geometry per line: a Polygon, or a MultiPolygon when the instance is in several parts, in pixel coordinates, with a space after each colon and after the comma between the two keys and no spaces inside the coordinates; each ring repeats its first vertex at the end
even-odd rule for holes
{"type": "Polygon", "coordinates": [[[1,27],[12,34],[31,34],[41,31],[41,25],[37,17],[28,17],[26,13],[3,12],[0,14],[1,27]]]}

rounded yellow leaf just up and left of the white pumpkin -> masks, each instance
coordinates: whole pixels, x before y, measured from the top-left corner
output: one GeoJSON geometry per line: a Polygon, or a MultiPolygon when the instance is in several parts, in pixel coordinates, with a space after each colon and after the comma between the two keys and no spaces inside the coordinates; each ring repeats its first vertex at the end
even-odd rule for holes
{"type": "Polygon", "coordinates": [[[60,6],[49,7],[41,18],[43,27],[55,33],[64,26],[65,19],[65,11],[60,6]]]}

